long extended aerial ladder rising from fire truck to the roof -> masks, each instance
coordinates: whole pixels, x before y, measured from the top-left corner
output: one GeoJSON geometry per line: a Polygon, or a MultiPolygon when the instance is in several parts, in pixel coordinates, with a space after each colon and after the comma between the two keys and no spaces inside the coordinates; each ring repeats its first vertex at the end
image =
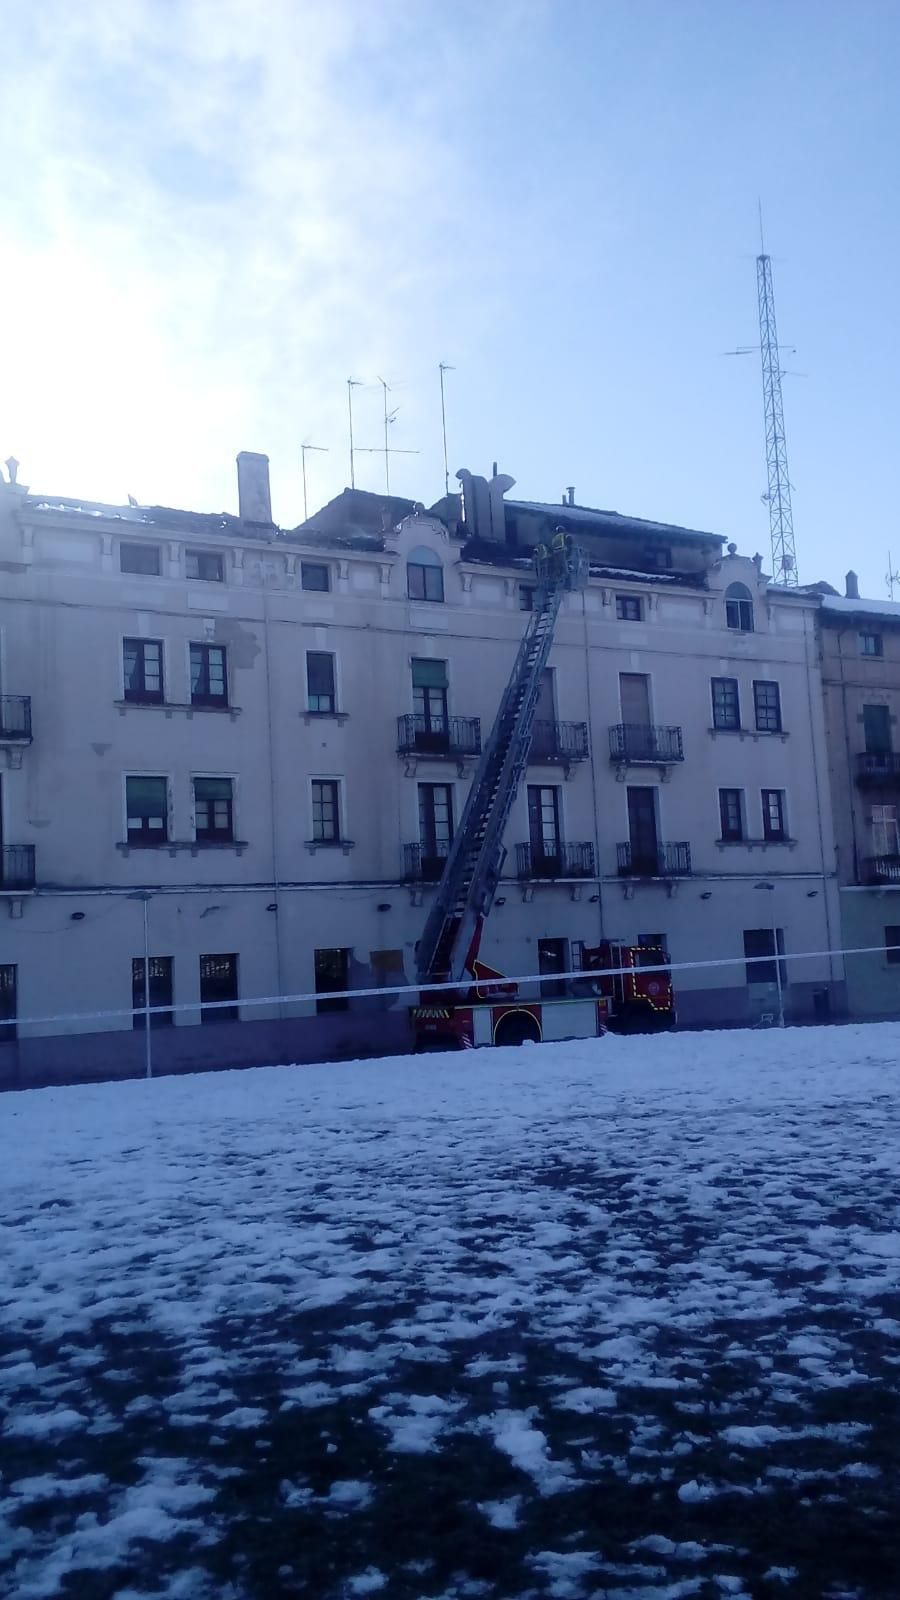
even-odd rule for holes
{"type": "Polygon", "coordinates": [[[474,973],[484,920],[503,872],[503,834],[528,760],[541,674],[562,597],[588,581],[585,554],[562,531],[549,546],[536,547],[535,568],[538,584],[528,626],[418,944],[416,978],[423,989],[461,982],[466,973],[474,973]]]}

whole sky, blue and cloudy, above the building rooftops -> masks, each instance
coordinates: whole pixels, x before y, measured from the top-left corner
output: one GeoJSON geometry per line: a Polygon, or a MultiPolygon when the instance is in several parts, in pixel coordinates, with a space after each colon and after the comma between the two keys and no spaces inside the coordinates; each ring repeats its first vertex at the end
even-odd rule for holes
{"type": "MultiPolygon", "coordinates": [[[[303,517],[391,488],[708,528],[769,566],[757,203],[801,581],[900,568],[894,0],[0,0],[0,459],[303,517]],[[796,376],[794,376],[796,374],[796,376]],[[400,451],[410,451],[400,454],[400,451]],[[413,453],[415,451],[415,453],[413,453]],[[384,488],[384,458],[356,459],[384,488]]],[[[900,592],[900,590],[898,590],[900,592]]]]}

